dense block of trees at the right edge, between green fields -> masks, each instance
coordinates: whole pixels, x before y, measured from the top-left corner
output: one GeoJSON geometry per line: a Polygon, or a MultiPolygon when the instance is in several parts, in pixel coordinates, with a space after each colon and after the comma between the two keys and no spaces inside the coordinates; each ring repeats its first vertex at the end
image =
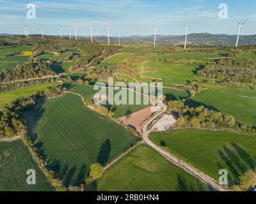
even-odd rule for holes
{"type": "Polygon", "coordinates": [[[207,62],[205,68],[199,70],[196,75],[226,82],[256,84],[256,62],[220,59],[218,61],[207,62]]]}

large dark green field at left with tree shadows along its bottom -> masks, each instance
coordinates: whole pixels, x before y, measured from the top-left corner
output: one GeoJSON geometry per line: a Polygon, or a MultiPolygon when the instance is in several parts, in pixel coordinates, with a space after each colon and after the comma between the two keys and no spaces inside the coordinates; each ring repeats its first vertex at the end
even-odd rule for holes
{"type": "Polygon", "coordinates": [[[29,132],[65,186],[83,183],[90,164],[108,164],[138,138],[112,120],[65,94],[26,114],[29,132]],[[32,128],[35,127],[35,128],[32,128]]]}

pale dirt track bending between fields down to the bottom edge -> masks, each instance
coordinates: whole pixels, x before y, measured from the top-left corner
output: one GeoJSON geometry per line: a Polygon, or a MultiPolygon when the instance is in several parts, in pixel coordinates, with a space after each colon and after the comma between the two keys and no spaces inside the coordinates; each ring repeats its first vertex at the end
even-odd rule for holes
{"type": "Polygon", "coordinates": [[[183,170],[187,171],[188,173],[190,173],[194,177],[202,180],[202,182],[204,182],[205,184],[208,184],[209,186],[211,186],[216,191],[225,191],[225,189],[223,189],[222,187],[218,186],[218,184],[216,184],[214,179],[212,179],[208,175],[205,175],[205,173],[202,173],[201,171],[197,170],[193,166],[190,166],[189,164],[185,163],[184,161],[182,161],[178,157],[173,156],[172,154],[170,154],[170,152],[166,152],[165,150],[161,149],[161,147],[157,146],[155,143],[153,143],[148,138],[148,135],[150,133],[150,130],[147,131],[148,125],[153,120],[155,120],[157,117],[159,117],[164,112],[166,112],[166,109],[167,109],[167,106],[163,105],[162,110],[159,113],[157,113],[156,115],[154,115],[154,117],[152,117],[147,122],[145,122],[145,124],[144,124],[144,126],[142,128],[142,133],[143,133],[142,137],[143,137],[143,140],[145,141],[145,143],[147,143],[150,147],[152,147],[154,150],[159,152],[159,154],[161,154],[168,161],[170,161],[171,163],[175,164],[176,166],[179,166],[180,168],[182,168],[183,170]]]}

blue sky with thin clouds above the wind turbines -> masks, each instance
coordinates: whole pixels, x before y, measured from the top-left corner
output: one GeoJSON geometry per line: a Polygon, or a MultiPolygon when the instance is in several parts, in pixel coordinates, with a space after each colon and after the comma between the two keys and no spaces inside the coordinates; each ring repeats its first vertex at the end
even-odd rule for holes
{"type": "MultiPolygon", "coordinates": [[[[157,34],[184,34],[189,25],[191,33],[236,34],[236,21],[248,22],[242,34],[256,33],[255,0],[54,0],[54,1],[1,1],[0,33],[23,34],[22,25],[29,26],[29,34],[40,33],[40,24],[45,34],[58,34],[58,25],[63,34],[68,26],[77,27],[80,36],[88,36],[90,26],[93,34],[122,36],[157,34]],[[26,18],[28,3],[36,5],[36,19],[26,18]],[[218,17],[219,4],[228,5],[228,18],[218,17]]],[[[72,29],[74,33],[74,29],[72,29]]]]}

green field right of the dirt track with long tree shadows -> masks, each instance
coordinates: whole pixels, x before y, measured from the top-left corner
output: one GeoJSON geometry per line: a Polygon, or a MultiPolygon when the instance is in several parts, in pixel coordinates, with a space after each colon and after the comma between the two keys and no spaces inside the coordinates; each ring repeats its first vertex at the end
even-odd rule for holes
{"type": "Polygon", "coordinates": [[[184,129],[173,133],[152,133],[150,138],[218,180],[219,170],[228,171],[234,183],[247,170],[256,167],[256,137],[238,133],[184,129]]]}

